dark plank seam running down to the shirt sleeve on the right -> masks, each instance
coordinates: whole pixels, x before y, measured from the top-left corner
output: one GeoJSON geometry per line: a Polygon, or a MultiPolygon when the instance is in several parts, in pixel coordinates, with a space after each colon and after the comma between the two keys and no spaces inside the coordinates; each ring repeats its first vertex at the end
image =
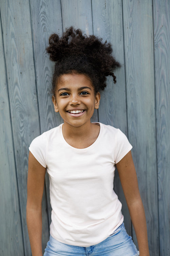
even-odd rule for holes
{"type": "MultiPolygon", "coordinates": [[[[127,137],[129,137],[129,133],[128,133],[128,102],[127,102],[127,84],[126,84],[126,62],[125,62],[125,46],[124,46],[124,19],[123,19],[123,0],[122,0],[122,27],[123,27],[123,55],[124,55],[124,77],[125,77],[125,94],[126,94],[126,124],[127,124],[127,137]]],[[[131,219],[130,219],[131,221],[131,219]]],[[[132,221],[131,221],[131,236],[133,239],[133,231],[132,231],[132,221]]]]}

